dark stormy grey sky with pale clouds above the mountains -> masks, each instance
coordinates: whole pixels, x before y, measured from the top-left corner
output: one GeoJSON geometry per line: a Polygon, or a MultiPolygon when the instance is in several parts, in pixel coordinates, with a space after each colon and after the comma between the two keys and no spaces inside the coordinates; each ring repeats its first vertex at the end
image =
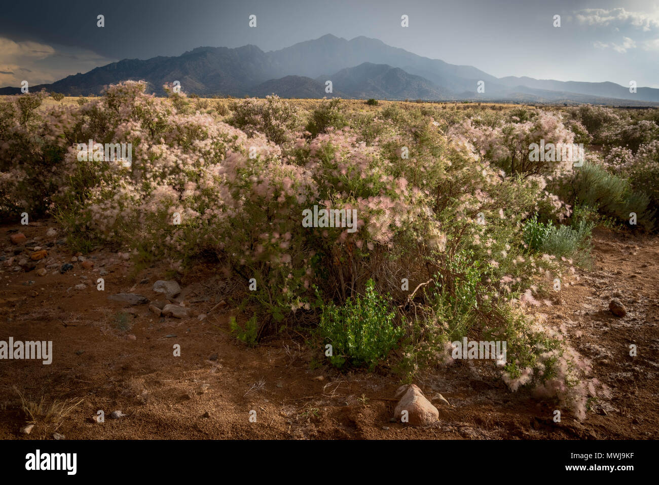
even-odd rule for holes
{"type": "Polygon", "coordinates": [[[659,0],[63,0],[5,2],[0,86],[52,82],[202,45],[281,49],[377,38],[497,77],[659,88],[659,0]],[[93,4],[93,5],[92,5],[93,4]],[[105,15],[105,27],[96,16],[105,15]],[[248,26],[255,14],[256,28],[248,26]],[[409,28],[401,27],[401,15],[409,28]],[[555,28],[554,15],[561,16],[555,28]]]}

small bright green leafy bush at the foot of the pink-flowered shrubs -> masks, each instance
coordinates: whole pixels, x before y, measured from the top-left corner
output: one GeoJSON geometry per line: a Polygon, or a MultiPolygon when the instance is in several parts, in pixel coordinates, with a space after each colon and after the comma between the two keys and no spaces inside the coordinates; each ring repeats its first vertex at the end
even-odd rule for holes
{"type": "Polygon", "coordinates": [[[396,314],[387,299],[369,280],[363,297],[351,297],[343,306],[322,306],[318,334],[332,346],[329,362],[333,366],[372,369],[395,347],[402,329],[396,326],[396,314]]]}

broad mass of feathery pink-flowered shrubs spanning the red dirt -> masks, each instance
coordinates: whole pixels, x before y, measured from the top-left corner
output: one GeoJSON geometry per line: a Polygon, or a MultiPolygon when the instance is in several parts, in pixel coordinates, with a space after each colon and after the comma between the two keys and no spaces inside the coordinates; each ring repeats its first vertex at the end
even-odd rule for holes
{"type": "Polygon", "coordinates": [[[235,101],[224,123],[219,101],[155,98],[144,86],[48,109],[45,94],[0,104],[3,215],[49,211],[82,248],[101,242],[178,271],[215,255],[256,285],[245,304],[257,317],[231,323],[250,345],[263,318],[283,328],[317,316],[333,364],[372,367],[400,343],[409,378],[450,364],[452,339],[496,337],[508,342],[511,389],[534,385],[581,415],[587,367],[522,309],[540,304],[543,285],[585,245],[577,202],[620,220],[636,212],[651,227],[656,140],[634,138],[617,127],[624,117],[596,107],[564,121],[473,105],[350,112],[340,100],[316,104],[304,136],[292,101],[235,101]],[[604,165],[594,152],[583,167],[529,156],[540,140],[587,143],[610,130],[639,145],[607,148],[604,165]],[[79,157],[90,140],[130,144],[130,164],[79,157]],[[354,210],[355,226],[305,227],[314,208],[354,210]],[[535,214],[552,222],[529,221],[535,214]]]}

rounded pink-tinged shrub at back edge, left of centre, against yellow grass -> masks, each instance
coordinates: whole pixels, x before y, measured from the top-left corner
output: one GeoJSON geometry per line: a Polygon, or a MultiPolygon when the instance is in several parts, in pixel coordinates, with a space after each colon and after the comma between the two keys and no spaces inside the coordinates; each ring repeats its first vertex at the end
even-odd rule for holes
{"type": "Polygon", "coordinates": [[[275,144],[293,139],[291,130],[297,125],[297,109],[291,101],[275,95],[266,96],[265,101],[250,98],[233,103],[231,111],[229,125],[240,128],[248,136],[263,133],[275,144]]]}

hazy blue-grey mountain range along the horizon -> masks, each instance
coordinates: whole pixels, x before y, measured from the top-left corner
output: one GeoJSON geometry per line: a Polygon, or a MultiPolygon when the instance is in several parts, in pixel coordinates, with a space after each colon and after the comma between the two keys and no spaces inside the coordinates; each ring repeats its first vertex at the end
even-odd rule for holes
{"type": "MultiPolygon", "coordinates": [[[[199,96],[659,103],[659,89],[641,87],[631,93],[629,87],[613,82],[496,78],[472,66],[429,59],[377,39],[362,36],[345,40],[331,34],[278,51],[264,52],[256,45],[197,47],[175,57],[123,59],[52,84],[31,86],[30,90],[98,95],[107,85],[129,79],[145,80],[149,92],[156,94],[164,94],[163,84],[179,80],[183,92],[199,96]],[[326,92],[328,80],[331,93],[326,92]],[[478,93],[480,81],[484,92],[478,93]]],[[[18,93],[20,88],[0,88],[0,94],[18,93]]]]}

